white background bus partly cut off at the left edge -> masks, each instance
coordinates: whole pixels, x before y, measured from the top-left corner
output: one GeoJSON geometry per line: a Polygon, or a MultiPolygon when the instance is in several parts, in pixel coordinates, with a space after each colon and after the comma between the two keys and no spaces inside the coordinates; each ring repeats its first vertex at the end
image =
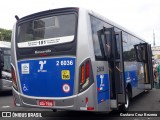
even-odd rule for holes
{"type": "Polygon", "coordinates": [[[2,78],[0,78],[0,91],[11,90],[12,89],[12,79],[11,79],[11,43],[0,41],[0,50],[2,58],[2,78]]]}

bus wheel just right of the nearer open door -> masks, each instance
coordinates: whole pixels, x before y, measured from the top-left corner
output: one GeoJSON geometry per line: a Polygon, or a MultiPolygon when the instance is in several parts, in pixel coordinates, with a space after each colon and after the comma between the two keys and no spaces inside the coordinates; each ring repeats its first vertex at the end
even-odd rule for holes
{"type": "Polygon", "coordinates": [[[129,110],[129,104],[130,104],[129,92],[128,90],[126,90],[126,104],[122,104],[119,107],[120,112],[127,112],[129,110]]]}

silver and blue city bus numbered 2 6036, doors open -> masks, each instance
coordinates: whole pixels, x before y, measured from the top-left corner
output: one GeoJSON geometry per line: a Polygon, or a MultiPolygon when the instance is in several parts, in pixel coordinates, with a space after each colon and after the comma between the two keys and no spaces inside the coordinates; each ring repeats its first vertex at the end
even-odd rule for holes
{"type": "Polygon", "coordinates": [[[150,44],[99,14],[69,7],[16,19],[15,106],[127,111],[131,98],[152,89],[150,44]]]}

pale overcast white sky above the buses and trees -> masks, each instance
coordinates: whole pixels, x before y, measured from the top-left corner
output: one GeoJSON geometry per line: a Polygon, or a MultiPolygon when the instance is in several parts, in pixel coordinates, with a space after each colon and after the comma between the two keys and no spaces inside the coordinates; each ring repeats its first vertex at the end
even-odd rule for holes
{"type": "Polygon", "coordinates": [[[153,44],[160,45],[160,0],[1,0],[0,28],[12,29],[19,18],[62,7],[83,7],[110,19],[153,44]]]}

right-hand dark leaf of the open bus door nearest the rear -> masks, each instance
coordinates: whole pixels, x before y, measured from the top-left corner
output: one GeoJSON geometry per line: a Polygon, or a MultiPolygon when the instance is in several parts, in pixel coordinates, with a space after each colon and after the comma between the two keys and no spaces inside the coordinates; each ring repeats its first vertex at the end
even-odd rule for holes
{"type": "Polygon", "coordinates": [[[117,104],[126,103],[126,82],[124,80],[124,61],[122,47],[122,32],[115,33],[114,56],[115,56],[115,80],[117,104]]]}

